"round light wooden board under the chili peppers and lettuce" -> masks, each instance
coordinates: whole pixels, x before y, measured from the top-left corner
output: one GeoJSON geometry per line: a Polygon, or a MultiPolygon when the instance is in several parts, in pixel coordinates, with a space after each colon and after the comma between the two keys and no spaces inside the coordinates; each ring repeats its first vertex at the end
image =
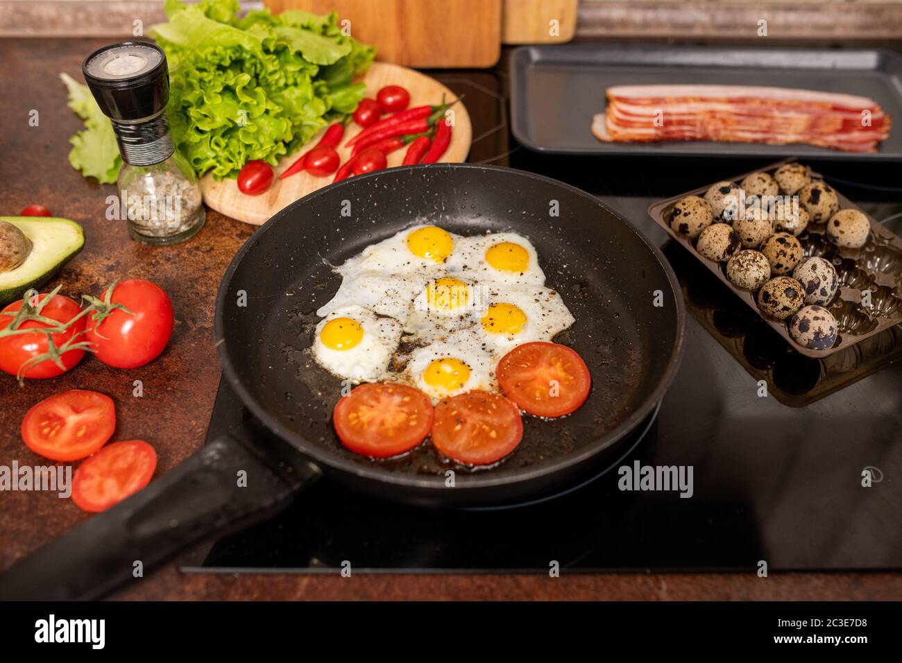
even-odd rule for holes
{"type": "MultiPolygon", "coordinates": [[[[364,76],[364,83],[366,83],[366,97],[372,98],[376,96],[376,92],[381,87],[386,85],[406,87],[410,92],[410,107],[425,106],[427,104],[435,106],[441,103],[442,95],[445,95],[447,100],[456,97],[451,90],[439,83],[435,78],[429,78],[425,74],[419,73],[419,71],[388,62],[373,62],[373,66],[364,76]]],[[[458,102],[453,108],[455,110],[455,124],[454,132],[451,134],[451,144],[448,146],[445,155],[438,161],[466,161],[466,155],[470,152],[470,143],[473,139],[473,125],[470,124],[470,115],[467,114],[462,102],[458,102]]],[[[359,131],[360,127],[354,124],[353,121],[348,123],[345,137],[342,139],[342,146],[338,148],[338,154],[341,156],[342,163],[351,155],[351,148],[345,147],[344,143],[359,131]]],[[[314,135],[310,142],[301,147],[298,152],[290,154],[280,161],[279,165],[275,167],[276,180],[266,193],[260,196],[245,196],[238,190],[235,180],[220,180],[217,182],[211,175],[207,174],[200,180],[200,189],[204,194],[204,202],[221,214],[249,224],[261,225],[282,207],[286,207],[298,198],[303,198],[308,193],[332,183],[334,175],[316,178],[306,170],[296,173],[285,180],[278,179],[279,174],[294,163],[301,154],[307,152],[315,145],[325,132],[326,129],[324,128],[314,135]]],[[[390,154],[388,158],[389,167],[400,166],[406,152],[407,148],[404,147],[390,154]]]]}

